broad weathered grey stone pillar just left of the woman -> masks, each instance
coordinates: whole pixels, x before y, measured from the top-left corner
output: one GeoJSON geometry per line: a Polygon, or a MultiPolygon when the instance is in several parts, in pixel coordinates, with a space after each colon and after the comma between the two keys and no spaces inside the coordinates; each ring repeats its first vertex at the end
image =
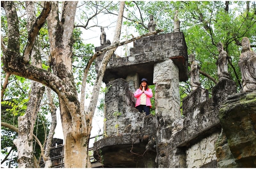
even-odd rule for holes
{"type": "Polygon", "coordinates": [[[134,95],[128,82],[120,78],[109,82],[106,87],[109,87],[105,94],[106,134],[116,136],[131,130],[140,130],[136,123],[139,111],[134,108],[134,95]],[[120,112],[120,115],[116,116],[113,114],[115,112],[120,112]]]}

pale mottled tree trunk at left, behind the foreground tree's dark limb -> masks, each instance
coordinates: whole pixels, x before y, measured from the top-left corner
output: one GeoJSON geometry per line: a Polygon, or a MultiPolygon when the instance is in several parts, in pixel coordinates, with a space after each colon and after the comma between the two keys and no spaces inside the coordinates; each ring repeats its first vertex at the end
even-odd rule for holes
{"type": "MultiPolygon", "coordinates": [[[[33,2],[26,2],[28,14],[28,31],[36,21],[36,14],[33,2]]],[[[25,56],[26,57],[26,56],[25,56]]],[[[29,56],[27,56],[29,58],[29,56]]],[[[33,66],[42,68],[39,47],[36,43],[31,52],[31,63],[33,66]]],[[[19,134],[17,139],[13,140],[18,150],[18,162],[20,168],[34,167],[33,152],[33,130],[36,121],[36,115],[39,111],[41,99],[44,94],[44,86],[41,83],[31,82],[31,94],[28,101],[27,110],[24,116],[18,117],[19,134]]]]}

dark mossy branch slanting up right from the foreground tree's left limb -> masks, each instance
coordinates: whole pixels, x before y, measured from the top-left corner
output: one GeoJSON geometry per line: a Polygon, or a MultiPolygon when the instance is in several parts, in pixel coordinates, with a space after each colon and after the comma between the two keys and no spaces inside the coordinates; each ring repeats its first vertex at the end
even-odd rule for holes
{"type": "Polygon", "coordinates": [[[39,32],[41,27],[44,25],[44,22],[45,22],[46,18],[48,17],[48,15],[51,11],[51,8],[52,8],[52,3],[45,1],[43,11],[36,18],[36,22],[34,23],[33,27],[28,32],[28,42],[27,42],[27,45],[25,47],[24,54],[23,54],[25,63],[29,62],[29,56],[30,56],[33,46],[35,44],[37,33],[39,32]]]}

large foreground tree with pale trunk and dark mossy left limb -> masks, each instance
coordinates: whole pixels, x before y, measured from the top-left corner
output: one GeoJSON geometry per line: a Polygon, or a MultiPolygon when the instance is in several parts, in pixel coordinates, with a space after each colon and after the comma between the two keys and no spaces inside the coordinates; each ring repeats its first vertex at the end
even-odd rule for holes
{"type": "MultiPolygon", "coordinates": [[[[73,32],[77,2],[65,1],[61,5],[61,14],[59,13],[58,2],[44,2],[42,12],[36,18],[36,20],[32,22],[31,25],[33,26],[31,26],[28,30],[28,40],[26,42],[26,47],[23,54],[20,53],[19,18],[17,16],[15,5],[13,2],[9,1],[2,2],[1,5],[4,7],[8,25],[7,47],[3,49],[2,58],[4,71],[44,84],[45,86],[51,88],[58,95],[65,144],[65,167],[91,167],[89,156],[87,156],[87,154],[90,132],[92,128],[92,116],[94,114],[98,100],[100,84],[110,56],[116,50],[117,46],[124,45],[125,43],[132,42],[145,36],[159,33],[161,30],[150,32],[125,42],[119,42],[124,12],[124,2],[120,2],[113,43],[110,46],[94,53],[91,59],[88,60],[87,66],[84,70],[80,102],[78,99],[72,70],[72,48],[74,43],[73,32]],[[34,48],[36,48],[36,36],[44,26],[45,21],[47,21],[48,39],[50,42],[50,55],[48,56],[48,60],[52,72],[40,67],[36,67],[30,63],[32,60],[31,53],[33,53],[34,48]],[[104,51],[107,52],[103,58],[102,64],[96,77],[90,105],[88,109],[85,109],[85,84],[88,71],[93,60],[104,51]]],[[[28,8],[26,10],[28,10],[28,8]]],[[[38,99],[39,97],[37,96],[36,98],[38,99]]],[[[29,111],[29,109],[27,109],[27,111],[29,111]]],[[[22,122],[24,122],[24,118],[21,119],[22,122]]],[[[33,117],[28,115],[28,119],[31,120],[33,117]]],[[[33,126],[33,123],[27,124],[31,127],[33,126]]],[[[21,131],[19,131],[19,135],[20,132],[21,131]]],[[[32,134],[29,132],[28,126],[24,125],[22,132],[30,133],[29,139],[26,140],[29,144],[32,134]]],[[[19,148],[24,151],[24,145],[21,144],[20,141],[22,140],[17,139],[15,144],[20,144],[19,148]]],[[[20,167],[31,166],[33,161],[31,150],[27,151],[25,154],[29,154],[29,156],[24,157],[24,159],[21,157],[22,155],[19,154],[20,167]],[[24,162],[24,164],[21,164],[21,161],[24,162]]]]}

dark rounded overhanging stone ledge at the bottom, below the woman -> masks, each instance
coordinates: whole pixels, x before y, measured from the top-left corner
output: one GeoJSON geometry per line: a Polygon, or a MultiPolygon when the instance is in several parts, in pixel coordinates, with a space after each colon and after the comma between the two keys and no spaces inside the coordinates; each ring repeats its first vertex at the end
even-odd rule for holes
{"type": "Polygon", "coordinates": [[[103,138],[93,144],[94,158],[108,167],[144,168],[144,158],[155,167],[156,152],[147,150],[148,137],[141,134],[123,134],[103,138]]]}

